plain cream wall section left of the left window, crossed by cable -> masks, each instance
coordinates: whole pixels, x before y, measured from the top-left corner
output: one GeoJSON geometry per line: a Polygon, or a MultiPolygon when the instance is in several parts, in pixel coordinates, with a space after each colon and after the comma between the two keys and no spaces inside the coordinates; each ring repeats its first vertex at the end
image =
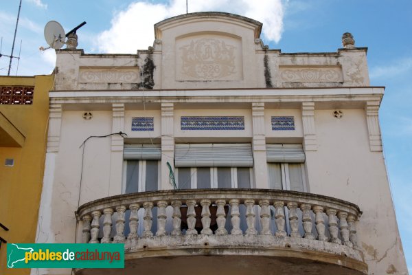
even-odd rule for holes
{"type": "MultiPolygon", "coordinates": [[[[81,188],[82,148],[79,146],[91,135],[111,133],[111,112],[93,111],[91,120],[84,120],[83,113],[82,111],[62,112],[60,148],[55,159],[54,177],[52,177],[53,211],[50,231],[54,232],[56,243],[74,241],[75,231],[67,228],[76,228],[76,217],[73,213],[79,204],[108,196],[110,137],[91,138],[87,141],[81,188]]],[[[54,159],[47,159],[47,161],[53,162],[54,159]]],[[[50,163],[47,162],[46,165],[50,163]]]]}

